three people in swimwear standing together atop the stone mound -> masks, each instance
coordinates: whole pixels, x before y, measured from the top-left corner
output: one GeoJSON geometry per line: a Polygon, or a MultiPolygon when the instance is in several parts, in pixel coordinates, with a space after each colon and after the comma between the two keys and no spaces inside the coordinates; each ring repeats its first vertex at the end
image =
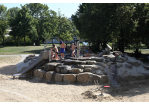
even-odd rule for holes
{"type": "MultiPolygon", "coordinates": [[[[72,57],[76,57],[76,55],[75,55],[75,47],[76,46],[74,45],[74,43],[72,43],[71,48],[70,48],[70,50],[72,51],[72,53],[71,53],[72,57]]],[[[66,48],[65,43],[63,41],[61,41],[60,42],[61,59],[64,59],[65,48],[66,48]]],[[[56,47],[55,44],[53,44],[53,48],[50,51],[51,51],[51,59],[53,59],[54,54],[55,54],[55,59],[60,59],[59,56],[58,56],[58,54],[59,54],[58,48],[56,47]]]]}

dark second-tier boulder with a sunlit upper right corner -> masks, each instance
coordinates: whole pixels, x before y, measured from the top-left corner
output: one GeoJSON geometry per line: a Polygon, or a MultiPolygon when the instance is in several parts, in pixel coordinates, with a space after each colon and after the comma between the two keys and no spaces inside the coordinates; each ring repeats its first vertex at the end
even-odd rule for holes
{"type": "Polygon", "coordinates": [[[68,71],[70,71],[70,70],[71,70],[71,66],[67,66],[67,65],[62,65],[62,66],[56,67],[56,72],[62,73],[62,74],[67,74],[68,71]]]}

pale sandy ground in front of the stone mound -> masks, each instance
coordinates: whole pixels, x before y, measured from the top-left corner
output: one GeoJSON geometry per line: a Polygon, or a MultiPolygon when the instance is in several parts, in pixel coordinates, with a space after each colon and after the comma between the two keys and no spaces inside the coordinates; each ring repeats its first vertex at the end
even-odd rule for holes
{"type": "MultiPolygon", "coordinates": [[[[35,78],[13,80],[16,64],[7,63],[0,64],[0,102],[149,102],[149,80],[122,84],[120,89],[106,90],[105,96],[95,96],[87,93],[95,89],[94,84],[47,84],[35,78]]],[[[103,85],[107,84],[100,84],[103,85]]]]}

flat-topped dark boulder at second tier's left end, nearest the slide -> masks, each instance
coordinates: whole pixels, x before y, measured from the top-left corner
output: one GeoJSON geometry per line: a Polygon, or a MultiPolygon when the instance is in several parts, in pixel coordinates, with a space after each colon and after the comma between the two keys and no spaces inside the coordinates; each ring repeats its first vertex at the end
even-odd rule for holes
{"type": "Polygon", "coordinates": [[[56,71],[56,67],[62,65],[62,63],[46,63],[44,69],[46,71],[56,71]]]}

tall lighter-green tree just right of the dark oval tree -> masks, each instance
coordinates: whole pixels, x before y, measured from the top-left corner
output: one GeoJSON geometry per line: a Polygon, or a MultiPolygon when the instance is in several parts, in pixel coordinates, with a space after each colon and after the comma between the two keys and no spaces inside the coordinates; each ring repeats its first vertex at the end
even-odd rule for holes
{"type": "Polygon", "coordinates": [[[51,23],[49,22],[49,7],[45,4],[40,3],[29,3],[26,5],[30,10],[30,14],[34,18],[34,25],[36,26],[35,37],[37,39],[37,45],[40,45],[40,40],[46,39],[51,35],[50,32],[53,32],[53,29],[51,28],[51,23]]]}

